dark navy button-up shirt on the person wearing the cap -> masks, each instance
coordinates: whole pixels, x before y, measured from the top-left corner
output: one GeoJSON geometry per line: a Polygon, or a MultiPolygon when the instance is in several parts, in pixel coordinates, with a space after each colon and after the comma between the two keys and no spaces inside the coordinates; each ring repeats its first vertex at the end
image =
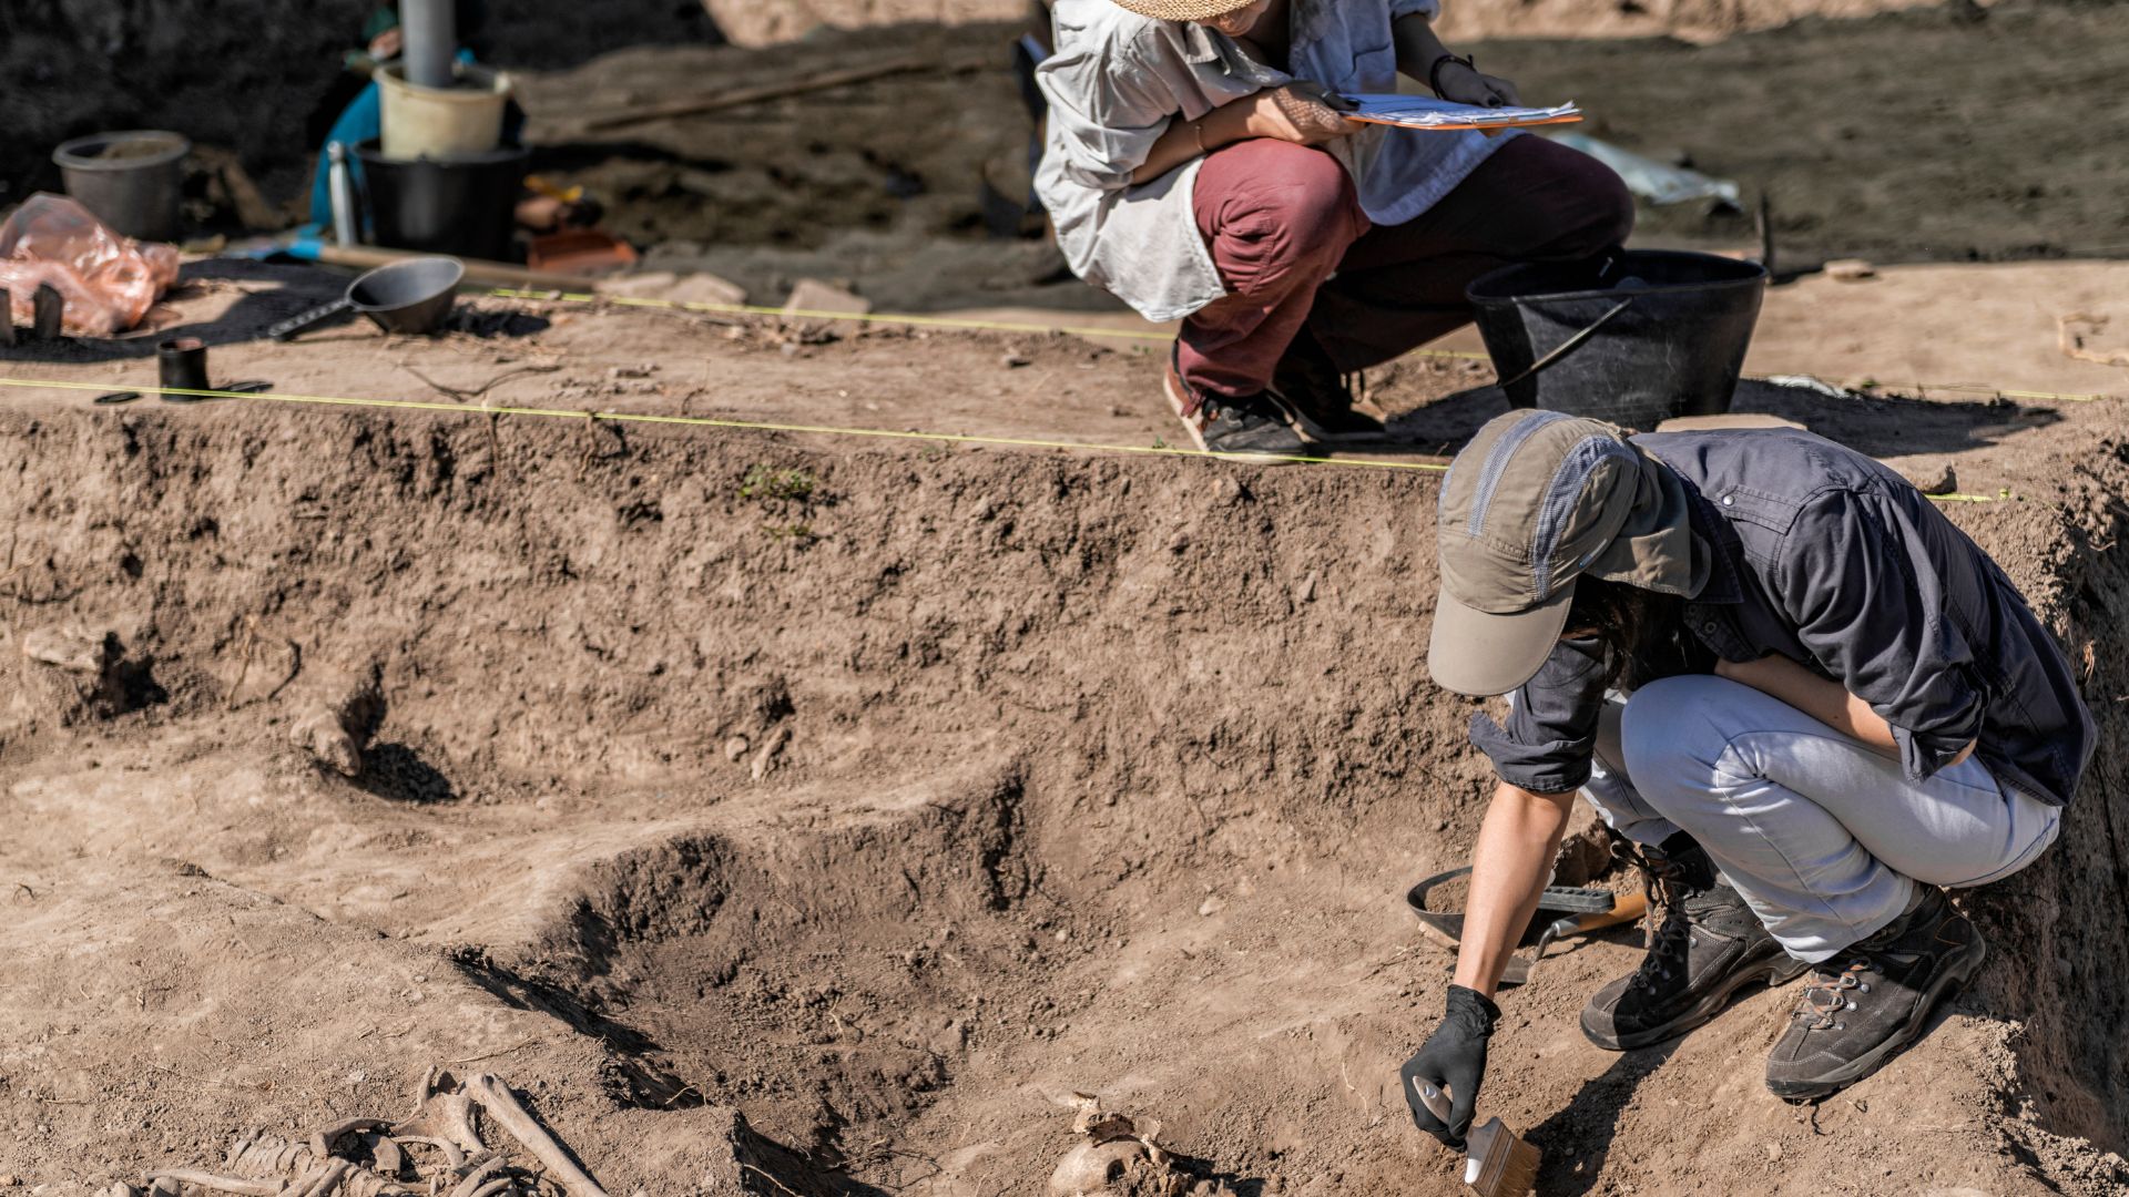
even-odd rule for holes
{"type": "MultiPolygon", "coordinates": [[[[1629,662],[1635,682],[1782,654],[1871,705],[1920,782],[1978,739],[1999,784],[2069,803],[2097,728],[2063,650],[1988,554],[1884,464],[1786,428],[1633,439],[1693,492],[1714,550],[1682,628],[1629,662]],[[1680,635],[1682,633],[1682,635],[1680,635]]],[[[1501,780],[1535,792],[1590,775],[1603,647],[1565,639],[1507,722],[1471,720],[1501,780]]]]}

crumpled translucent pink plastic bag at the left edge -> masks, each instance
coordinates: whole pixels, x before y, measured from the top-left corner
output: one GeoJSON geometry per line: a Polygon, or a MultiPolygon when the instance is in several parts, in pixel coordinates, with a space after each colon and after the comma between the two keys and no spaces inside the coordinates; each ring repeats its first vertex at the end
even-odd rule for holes
{"type": "Polygon", "coordinates": [[[30,324],[38,283],[66,298],[66,332],[123,332],[177,281],[177,247],[111,232],[89,209],[38,192],[0,224],[0,288],[13,296],[15,324],[30,324]]]}

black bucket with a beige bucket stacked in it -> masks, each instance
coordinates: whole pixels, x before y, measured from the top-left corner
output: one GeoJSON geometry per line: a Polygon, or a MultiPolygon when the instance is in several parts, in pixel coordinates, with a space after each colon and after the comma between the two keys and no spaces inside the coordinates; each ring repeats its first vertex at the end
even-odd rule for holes
{"type": "Polygon", "coordinates": [[[377,245],[507,262],[517,230],[517,194],[530,149],[492,149],[451,158],[385,158],[377,143],[356,147],[377,245]]]}

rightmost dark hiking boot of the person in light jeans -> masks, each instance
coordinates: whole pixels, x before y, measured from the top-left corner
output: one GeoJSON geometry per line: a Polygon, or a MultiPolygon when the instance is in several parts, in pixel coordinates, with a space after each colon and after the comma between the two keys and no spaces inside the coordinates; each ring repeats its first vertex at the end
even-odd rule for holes
{"type": "Polygon", "coordinates": [[[1767,1088],[1812,1101],[1878,1071],[1922,1037],[1929,1012],[1986,954],[1974,922],[1929,886],[1891,927],[1812,967],[1795,1020],[1767,1056],[1767,1088]]]}

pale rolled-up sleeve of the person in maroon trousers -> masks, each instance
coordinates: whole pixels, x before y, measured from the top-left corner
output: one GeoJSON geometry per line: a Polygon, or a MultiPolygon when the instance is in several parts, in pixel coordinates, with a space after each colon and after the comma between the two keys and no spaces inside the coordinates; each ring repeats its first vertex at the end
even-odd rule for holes
{"type": "Polygon", "coordinates": [[[1135,43],[1062,49],[1041,64],[1037,81],[1056,126],[1050,147],[1064,155],[1064,175],[1086,187],[1116,192],[1145,164],[1179,104],[1135,43]]]}

